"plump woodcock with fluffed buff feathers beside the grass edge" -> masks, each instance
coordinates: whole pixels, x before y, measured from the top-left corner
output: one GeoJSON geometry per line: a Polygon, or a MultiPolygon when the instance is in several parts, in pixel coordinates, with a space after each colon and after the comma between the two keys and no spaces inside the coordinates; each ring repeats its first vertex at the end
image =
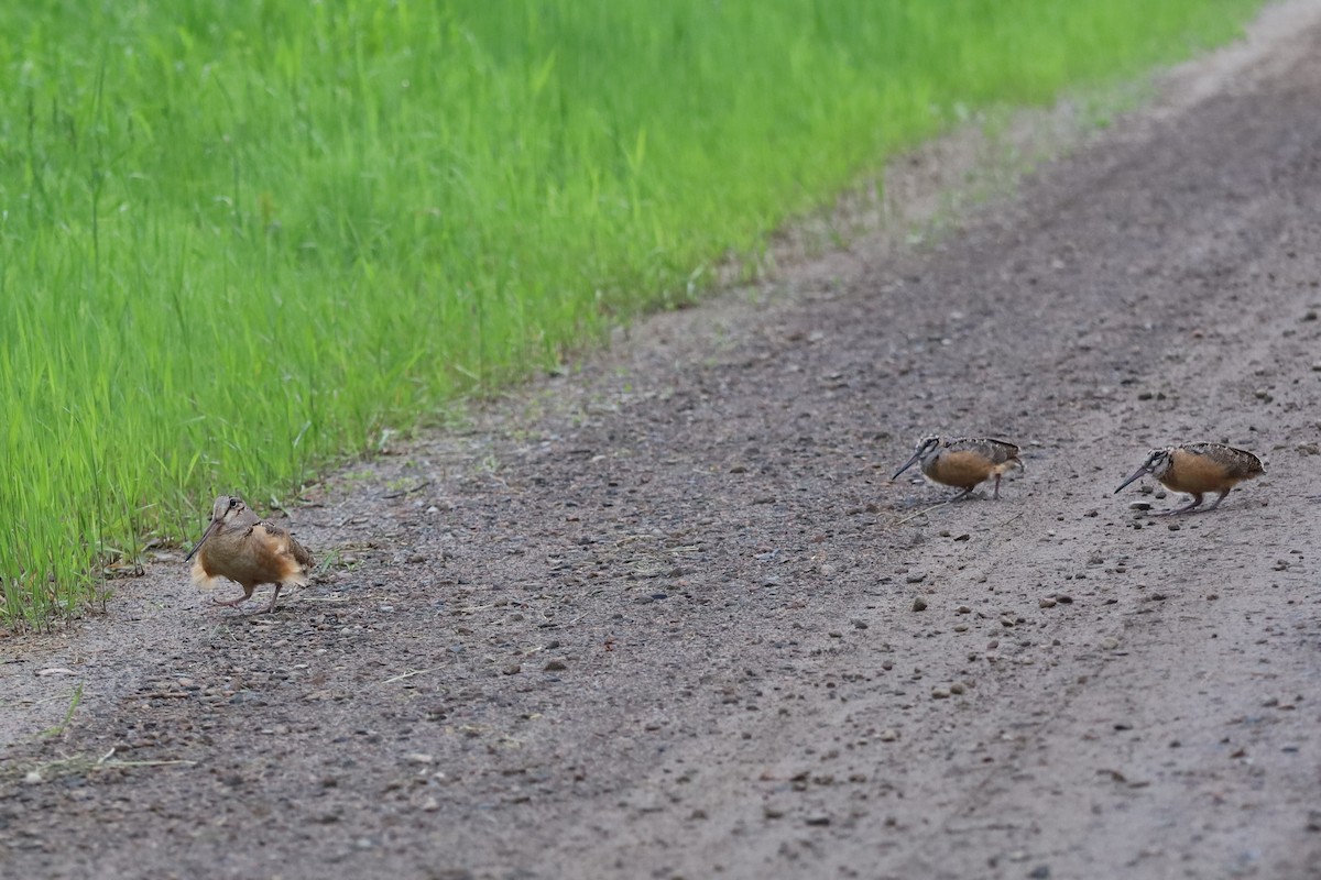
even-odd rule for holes
{"type": "Polygon", "coordinates": [[[280,587],[287,583],[305,584],[312,567],[312,554],[293,540],[293,536],[277,525],[262,520],[248,509],[243,499],[222,495],[211,508],[211,522],[206,526],[197,546],[184,558],[193,557],[193,581],[210,583],[215,578],[229,578],[240,587],[243,595],[238,599],[211,602],[218,606],[236,607],[252,598],[252,590],[260,583],[273,583],[275,594],[267,611],[275,610],[280,598],[280,587]]]}

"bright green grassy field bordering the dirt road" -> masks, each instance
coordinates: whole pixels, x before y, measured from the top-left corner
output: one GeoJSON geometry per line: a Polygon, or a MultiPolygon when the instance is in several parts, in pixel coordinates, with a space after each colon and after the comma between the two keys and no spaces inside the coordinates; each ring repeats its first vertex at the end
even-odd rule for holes
{"type": "Polygon", "coordinates": [[[0,623],[1256,0],[0,8],[0,623]]]}

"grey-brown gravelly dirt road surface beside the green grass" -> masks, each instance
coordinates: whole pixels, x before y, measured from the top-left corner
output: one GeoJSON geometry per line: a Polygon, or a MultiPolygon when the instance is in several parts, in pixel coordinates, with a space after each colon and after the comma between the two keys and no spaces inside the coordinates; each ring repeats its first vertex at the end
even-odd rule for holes
{"type": "Polygon", "coordinates": [[[1321,876],[1318,4],[1162,95],[320,487],[276,613],[0,641],[0,875],[1321,876]],[[1194,439],[1267,474],[1112,493],[1194,439]]]}

